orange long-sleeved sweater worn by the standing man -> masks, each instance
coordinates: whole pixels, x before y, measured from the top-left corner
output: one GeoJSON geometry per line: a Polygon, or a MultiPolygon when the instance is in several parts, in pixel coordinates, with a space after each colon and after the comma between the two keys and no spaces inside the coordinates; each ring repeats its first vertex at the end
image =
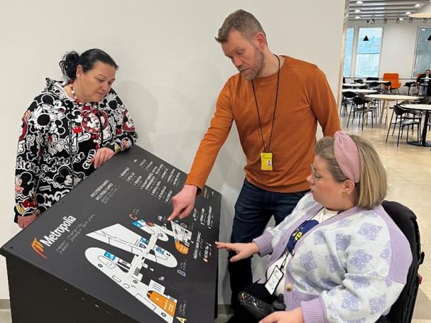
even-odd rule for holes
{"type": "MultiPolygon", "coordinates": [[[[277,73],[256,77],[253,82],[268,150],[277,73]]],[[[310,187],[305,179],[314,158],[317,121],[324,136],[333,136],[340,130],[335,99],[324,73],[309,62],[285,57],[269,149],[273,153],[273,170],[261,170],[263,143],[251,81],[236,74],[219,94],[211,125],[200,142],[186,184],[202,189],[233,121],[246,155],[246,179],[272,192],[300,192],[310,187]]]]}

